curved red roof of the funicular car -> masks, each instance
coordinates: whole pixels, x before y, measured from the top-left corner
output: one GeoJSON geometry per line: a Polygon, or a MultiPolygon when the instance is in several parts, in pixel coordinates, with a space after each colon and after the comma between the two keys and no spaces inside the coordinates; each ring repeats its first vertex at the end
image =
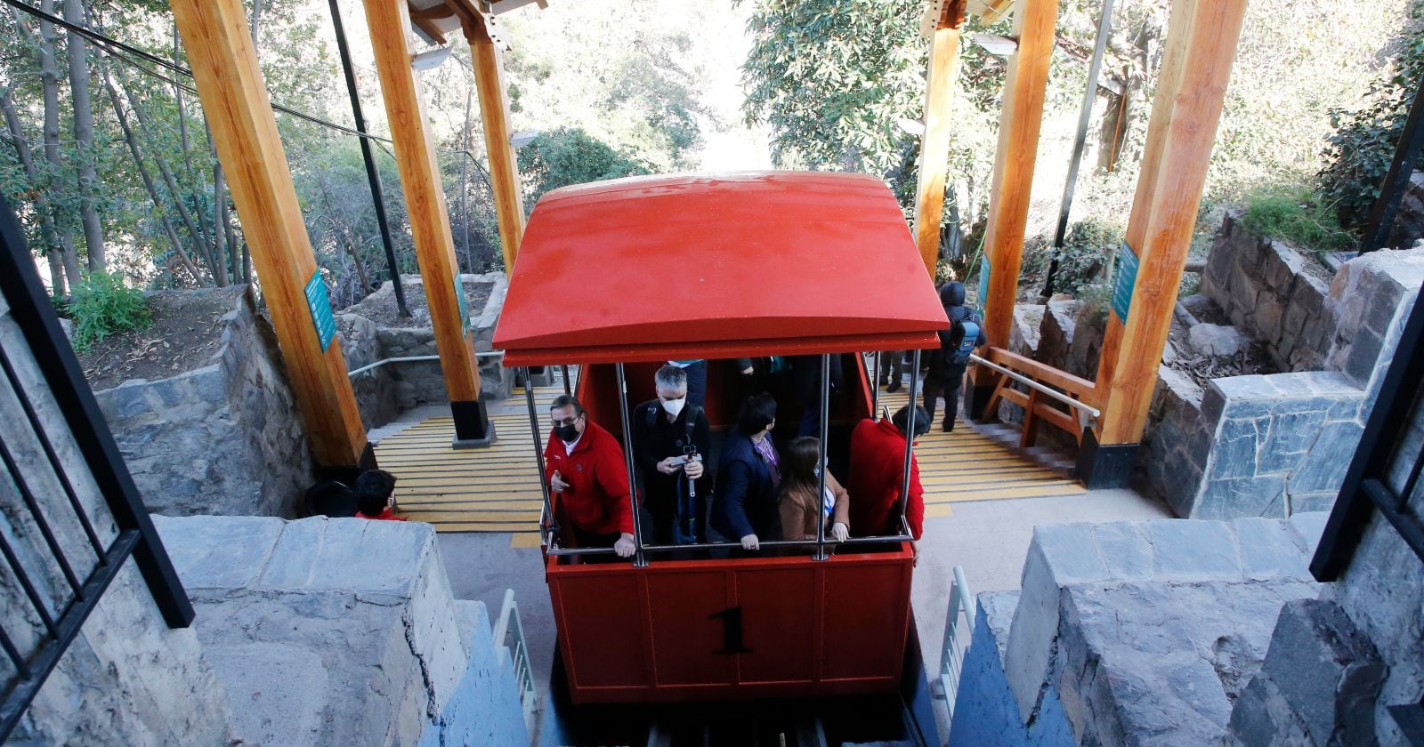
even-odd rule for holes
{"type": "Polygon", "coordinates": [[[946,327],[880,179],[635,176],[538,201],[494,347],[506,366],[725,359],[924,349],[946,327]]]}

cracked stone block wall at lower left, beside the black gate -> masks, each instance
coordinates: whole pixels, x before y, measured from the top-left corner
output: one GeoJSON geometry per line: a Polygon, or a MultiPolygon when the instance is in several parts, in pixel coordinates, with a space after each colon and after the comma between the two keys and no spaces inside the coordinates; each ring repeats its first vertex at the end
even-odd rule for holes
{"type": "Polygon", "coordinates": [[[528,743],[488,616],[453,599],[430,525],[157,521],[241,738],[528,743]]]}

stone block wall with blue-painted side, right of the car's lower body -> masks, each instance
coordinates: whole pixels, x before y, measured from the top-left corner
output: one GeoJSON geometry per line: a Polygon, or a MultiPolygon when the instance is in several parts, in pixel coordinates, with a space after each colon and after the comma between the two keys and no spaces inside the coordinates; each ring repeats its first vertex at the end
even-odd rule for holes
{"type": "Polygon", "coordinates": [[[1037,528],[1007,632],[981,595],[965,677],[988,682],[961,679],[951,743],[1218,744],[1280,609],[1319,593],[1306,565],[1323,526],[1300,514],[1037,528]]]}

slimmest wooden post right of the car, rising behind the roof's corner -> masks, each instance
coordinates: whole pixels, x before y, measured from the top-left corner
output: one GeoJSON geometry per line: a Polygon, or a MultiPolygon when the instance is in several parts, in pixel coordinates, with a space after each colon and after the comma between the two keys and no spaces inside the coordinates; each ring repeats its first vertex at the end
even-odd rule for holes
{"type": "Polygon", "coordinates": [[[934,282],[940,259],[940,223],[944,218],[944,182],[950,159],[950,102],[960,73],[960,28],[964,3],[950,3],[930,31],[930,70],[926,74],[924,135],[914,189],[914,243],[934,282]]]}

